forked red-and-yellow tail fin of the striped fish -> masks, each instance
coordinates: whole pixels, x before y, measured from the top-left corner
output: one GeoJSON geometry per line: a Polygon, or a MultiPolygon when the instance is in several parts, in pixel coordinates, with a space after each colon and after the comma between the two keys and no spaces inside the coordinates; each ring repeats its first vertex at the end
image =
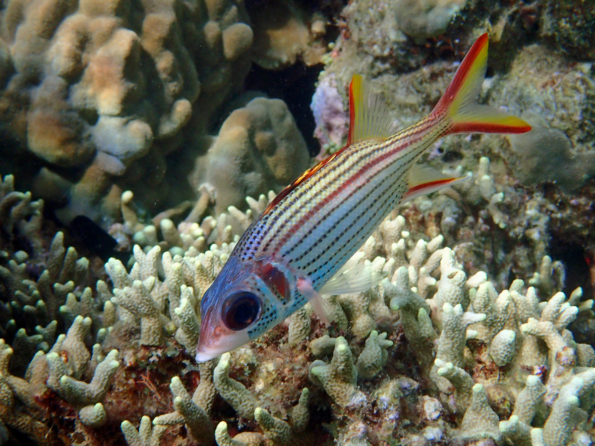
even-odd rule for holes
{"type": "Polygon", "coordinates": [[[459,65],[432,114],[449,121],[447,133],[525,133],[531,125],[497,108],[480,105],[477,98],[487,68],[487,33],[482,34],[459,65]]]}

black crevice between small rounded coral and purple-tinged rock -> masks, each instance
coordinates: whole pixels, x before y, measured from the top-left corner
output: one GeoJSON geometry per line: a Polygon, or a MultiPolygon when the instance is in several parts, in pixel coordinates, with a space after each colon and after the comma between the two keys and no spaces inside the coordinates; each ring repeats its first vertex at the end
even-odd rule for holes
{"type": "Polygon", "coordinates": [[[289,68],[279,71],[265,70],[252,64],[246,77],[246,90],[258,90],[270,98],[283,99],[296,120],[297,128],[306,140],[311,156],[320,152],[320,144],[314,138],[314,115],[310,109],[315,84],[322,65],[306,66],[296,62],[289,68]]]}

